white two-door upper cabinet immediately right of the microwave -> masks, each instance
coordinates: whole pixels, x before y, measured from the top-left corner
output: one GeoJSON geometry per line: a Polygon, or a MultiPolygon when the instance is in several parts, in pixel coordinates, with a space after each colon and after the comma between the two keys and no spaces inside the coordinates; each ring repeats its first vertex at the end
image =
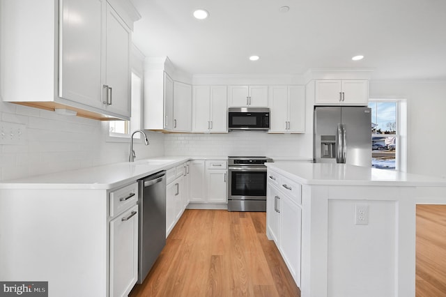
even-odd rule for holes
{"type": "Polygon", "coordinates": [[[305,86],[270,86],[270,133],[305,132],[305,86]]]}

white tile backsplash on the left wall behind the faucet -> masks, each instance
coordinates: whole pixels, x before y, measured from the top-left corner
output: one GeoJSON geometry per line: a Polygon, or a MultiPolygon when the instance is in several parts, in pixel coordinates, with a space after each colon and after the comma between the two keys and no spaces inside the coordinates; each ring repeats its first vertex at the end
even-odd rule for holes
{"type": "MultiPolygon", "coordinates": [[[[0,125],[25,126],[20,144],[0,142],[0,181],[128,160],[130,142],[107,142],[108,123],[61,116],[0,102],[0,125]]],[[[163,135],[146,131],[150,145],[134,145],[137,158],[164,154],[163,135]]]]}

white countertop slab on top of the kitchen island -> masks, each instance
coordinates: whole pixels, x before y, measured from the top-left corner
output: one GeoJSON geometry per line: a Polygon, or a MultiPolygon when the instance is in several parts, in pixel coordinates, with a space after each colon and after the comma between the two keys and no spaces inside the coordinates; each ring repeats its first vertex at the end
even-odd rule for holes
{"type": "Polygon", "coordinates": [[[268,169],[308,185],[404,185],[446,187],[445,178],[345,164],[274,162],[268,169]]]}

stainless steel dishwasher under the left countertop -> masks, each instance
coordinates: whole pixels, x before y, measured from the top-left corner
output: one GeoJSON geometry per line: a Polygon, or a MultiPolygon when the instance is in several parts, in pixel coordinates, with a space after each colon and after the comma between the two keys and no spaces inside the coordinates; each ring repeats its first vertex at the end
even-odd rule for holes
{"type": "Polygon", "coordinates": [[[138,283],[141,284],[166,245],[166,172],[152,174],[138,183],[138,283]]]}

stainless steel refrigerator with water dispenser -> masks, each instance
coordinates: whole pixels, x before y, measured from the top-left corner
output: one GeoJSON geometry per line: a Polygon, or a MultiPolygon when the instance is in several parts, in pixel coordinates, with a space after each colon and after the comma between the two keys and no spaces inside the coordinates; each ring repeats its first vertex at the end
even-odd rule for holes
{"type": "Polygon", "coordinates": [[[314,162],[371,167],[371,109],[315,107],[314,162]]]}

